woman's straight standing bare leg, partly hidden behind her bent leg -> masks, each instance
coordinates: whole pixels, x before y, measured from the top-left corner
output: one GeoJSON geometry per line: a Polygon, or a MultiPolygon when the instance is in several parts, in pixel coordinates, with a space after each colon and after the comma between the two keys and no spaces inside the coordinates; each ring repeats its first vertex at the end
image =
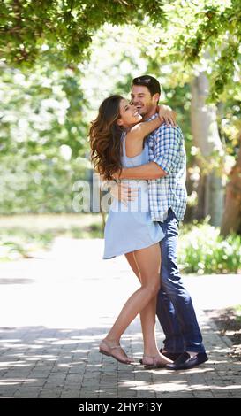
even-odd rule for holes
{"type": "MultiPolygon", "coordinates": [[[[132,271],[136,274],[140,281],[139,268],[136,264],[133,253],[125,254],[125,257],[132,267],[132,271]]],[[[139,312],[143,342],[144,354],[148,356],[157,356],[159,354],[155,340],[155,314],[156,314],[156,297],[153,297],[147,306],[139,312]]]]}

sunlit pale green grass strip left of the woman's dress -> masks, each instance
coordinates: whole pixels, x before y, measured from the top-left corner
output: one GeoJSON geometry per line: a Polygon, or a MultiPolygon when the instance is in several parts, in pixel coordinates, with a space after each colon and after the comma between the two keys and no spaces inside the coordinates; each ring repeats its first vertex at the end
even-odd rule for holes
{"type": "Polygon", "coordinates": [[[1,216],[0,230],[0,261],[10,261],[49,250],[57,236],[102,238],[102,218],[98,214],[1,216]]]}

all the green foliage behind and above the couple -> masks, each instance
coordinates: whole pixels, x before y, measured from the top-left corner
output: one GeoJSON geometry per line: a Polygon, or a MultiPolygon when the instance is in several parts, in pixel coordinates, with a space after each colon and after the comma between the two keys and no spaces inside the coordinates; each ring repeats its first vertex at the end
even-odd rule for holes
{"type": "MultiPolygon", "coordinates": [[[[212,212],[200,209],[200,185],[215,173],[220,188],[227,190],[236,175],[235,191],[229,195],[241,201],[240,1],[6,0],[1,8],[3,218],[23,213],[72,215],[74,184],[92,179],[87,133],[99,104],[112,93],[128,97],[132,78],[149,73],[161,82],[162,103],[177,112],[185,135],[189,196],[180,263],[187,272],[238,271],[241,202],[236,203],[236,217],[233,214],[237,227],[228,227],[229,237],[223,239],[219,227],[207,224],[212,212]],[[208,87],[204,111],[215,109],[222,143],[222,152],[213,149],[208,155],[201,154],[192,128],[193,81],[203,75],[208,87]]],[[[204,138],[207,143],[209,139],[204,138]]],[[[220,210],[225,220],[227,206],[220,205],[220,210]]],[[[35,231],[35,240],[48,244],[55,233],[65,232],[102,236],[102,220],[97,217],[91,224],[87,221],[87,227],[80,221],[81,226],[67,231],[61,226],[49,232],[44,226],[41,235],[35,231]]],[[[3,258],[8,257],[6,247],[26,255],[23,247],[34,241],[33,234],[13,228],[2,230],[3,258]]]]}

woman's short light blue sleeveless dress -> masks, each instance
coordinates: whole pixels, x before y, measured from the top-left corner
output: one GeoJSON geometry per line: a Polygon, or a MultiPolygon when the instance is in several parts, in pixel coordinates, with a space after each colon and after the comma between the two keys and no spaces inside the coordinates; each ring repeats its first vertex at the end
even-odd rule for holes
{"type": "MultiPolygon", "coordinates": [[[[121,136],[123,167],[134,167],[148,163],[148,145],[139,155],[128,158],[125,152],[125,136],[121,136]]],[[[159,243],[164,234],[158,222],[151,220],[148,199],[148,181],[123,180],[132,188],[138,189],[135,201],[129,201],[127,206],[114,198],[109,207],[109,216],[104,230],[103,258],[114,258],[134,250],[144,249],[159,243]]]]}

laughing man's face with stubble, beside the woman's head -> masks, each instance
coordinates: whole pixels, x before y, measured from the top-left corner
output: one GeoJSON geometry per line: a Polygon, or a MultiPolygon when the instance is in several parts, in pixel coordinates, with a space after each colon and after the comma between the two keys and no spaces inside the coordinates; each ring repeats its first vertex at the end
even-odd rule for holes
{"type": "Polygon", "coordinates": [[[151,93],[147,87],[142,85],[132,85],[131,98],[132,104],[135,105],[139,114],[146,116],[150,112],[154,112],[159,99],[159,94],[154,94],[154,96],[151,96],[151,93]]]}

